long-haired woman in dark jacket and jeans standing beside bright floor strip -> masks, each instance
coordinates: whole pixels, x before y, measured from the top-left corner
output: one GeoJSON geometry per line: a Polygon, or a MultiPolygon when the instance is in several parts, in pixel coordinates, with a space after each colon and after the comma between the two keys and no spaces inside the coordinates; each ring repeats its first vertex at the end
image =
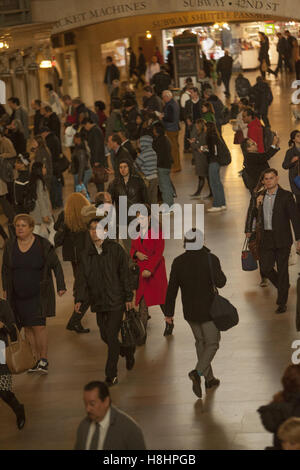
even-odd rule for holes
{"type": "Polygon", "coordinates": [[[206,142],[208,147],[208,175],[213,194],[213,205],[207,212],[226,210],[224,187],[220,178],[220,155],[224,151],[224,141],[213,122],[208,122],[206,142]]]}

